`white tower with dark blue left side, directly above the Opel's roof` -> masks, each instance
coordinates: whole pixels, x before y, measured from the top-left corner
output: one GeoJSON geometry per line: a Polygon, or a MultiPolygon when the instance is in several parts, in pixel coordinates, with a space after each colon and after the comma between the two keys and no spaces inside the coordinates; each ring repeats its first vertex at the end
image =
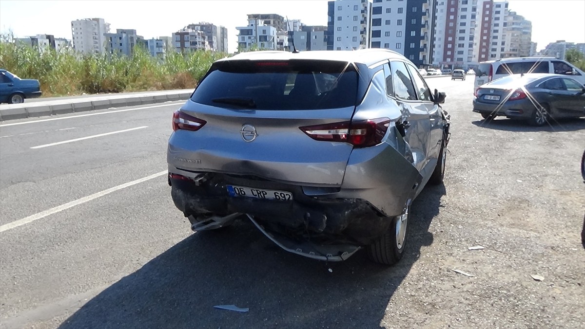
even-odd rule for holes
{"type": "Polygon", "coordinates": [[[335,0],[328,3],[327,49],[370,48],[371,8],[368,0],[335,0]]]}

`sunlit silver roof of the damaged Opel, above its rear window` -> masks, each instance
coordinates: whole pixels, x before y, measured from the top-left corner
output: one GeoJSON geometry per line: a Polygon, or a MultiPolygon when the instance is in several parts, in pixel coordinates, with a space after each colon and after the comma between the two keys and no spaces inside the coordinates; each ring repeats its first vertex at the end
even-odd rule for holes
{"type": "MultiPolygon", "coordinates": [[[[388,59],[406,60],[406,57],[388,49],[360,49],[360,50],[312,50],[291,53],[290,51],[249,51],[236,56],[223,58],[219,61],[230,60],[328,60],[347,63],[360,63],[367,66],[388,59]]],[[[218,61],[218,62],[219,62],[218,61]]]]}

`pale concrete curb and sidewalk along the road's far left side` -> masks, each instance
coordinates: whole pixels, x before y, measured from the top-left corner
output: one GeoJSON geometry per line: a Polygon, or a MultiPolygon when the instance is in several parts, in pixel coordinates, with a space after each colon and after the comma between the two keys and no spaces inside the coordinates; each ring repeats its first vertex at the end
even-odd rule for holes
{"type": "Polygon", "coordinates": [[[187,100],[192,89],[176,91],[135,92],[124,94],[84,96],[80,98],[50,99],[48,101],[0,105],[0,121],[48,115],[60,115],[123,106],[187,100]]]}

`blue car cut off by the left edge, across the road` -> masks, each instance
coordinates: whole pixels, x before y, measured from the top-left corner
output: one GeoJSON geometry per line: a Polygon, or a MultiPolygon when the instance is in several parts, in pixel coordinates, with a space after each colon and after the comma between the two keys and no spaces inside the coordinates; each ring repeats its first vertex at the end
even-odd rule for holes
{"type": "Polygon", "coordinates": [[[0,103],[17,104],[25,98],[42,95],[39,80],[20,79],[15,74],[0,68],[0,103]]]}

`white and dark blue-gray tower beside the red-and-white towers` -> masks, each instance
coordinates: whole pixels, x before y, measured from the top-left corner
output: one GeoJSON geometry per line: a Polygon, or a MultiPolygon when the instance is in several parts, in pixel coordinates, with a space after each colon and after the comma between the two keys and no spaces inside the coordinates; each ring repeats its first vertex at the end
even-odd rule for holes
{"type": "Polygon", "coordinates": [[[432,0],[374,0],[371,47],[403,54],[415,65],[428,64],[433,30],[432,0]]]}

